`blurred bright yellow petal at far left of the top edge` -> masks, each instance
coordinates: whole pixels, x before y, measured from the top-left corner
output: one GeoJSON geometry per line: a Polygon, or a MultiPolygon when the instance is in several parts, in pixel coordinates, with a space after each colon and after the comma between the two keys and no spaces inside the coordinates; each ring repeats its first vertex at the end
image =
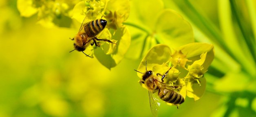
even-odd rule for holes
{"type": "Polygon", "coordinates": [[[24,17],[30,17],[38,12],[38,9],[33,7],[34,0],[18,0],[17,8],[20,11],[20,15],[24,17]]]}

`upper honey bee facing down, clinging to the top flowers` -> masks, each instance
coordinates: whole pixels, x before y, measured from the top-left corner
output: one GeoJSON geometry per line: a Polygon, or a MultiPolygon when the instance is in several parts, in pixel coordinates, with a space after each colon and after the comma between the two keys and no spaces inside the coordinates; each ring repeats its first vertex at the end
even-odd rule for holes
{"type": "MultiPolygon", "coordinates": [[[[74,42],[74,48],[75,48],[74,50],[82,51],[84,53],[84,50],[86,49],[86,47],[89,46],[89,44],[91,46],[93,46],[93,44],[95,44],[97,47],[99,47],[99,43],[97,43],[96,40],[97,41],[108,41],[110,43],[113,43],[109,39],[98,39],[97,38],[97,35],[99,35],[99,33],[102,32],[102,30],[107,25],[107,21],[103,20],[103,19],[97,19],[97,20],[88,22],[91,14],[92,14],[92,12],[88,11],[88,13],[86,14],[86,16],[84,18],[82,25],[80,26],[80,29],[79,29],[77,35],[73,39],[71,39],[71,40],[75,41],[74,42]],[[92,43],[90,43],[91,40],[93,40],[92,43]]],[[[114,43],[114,44],[117,44],[117,43],[114,43]]],[[[74,51],[74,50],[72,50],[72,51],[74,51]]],[[[72,51],[70,51],[70,52],[72,52],[72,51]]],[[[90,57],[87,54],[85,54],[85,55],[90,57]]]]}

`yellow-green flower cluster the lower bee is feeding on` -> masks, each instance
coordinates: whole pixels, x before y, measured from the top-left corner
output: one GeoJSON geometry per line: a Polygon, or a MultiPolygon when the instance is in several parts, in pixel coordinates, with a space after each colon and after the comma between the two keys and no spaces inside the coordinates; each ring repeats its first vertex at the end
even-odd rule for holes
{"type": "MultiPolygon", "coordinates": [[[[214,46],[207,43],[190,43],[177,49],[158,44],[151,48],[142,59],[138,71],[147,69],[164,74],[170,66],[172,69],[165,77],[164,83],[170,86],[182,86],[179,93],[198,100],[205,92],[204,73],[214,59],[214,46]]],[[[141,74],[137,74],[141,78],[141,74]]],[[[141,84],[142,87],[144,84],[141,84]]],[[[171,103],[168,103],[172,105],[171,103]]]]}

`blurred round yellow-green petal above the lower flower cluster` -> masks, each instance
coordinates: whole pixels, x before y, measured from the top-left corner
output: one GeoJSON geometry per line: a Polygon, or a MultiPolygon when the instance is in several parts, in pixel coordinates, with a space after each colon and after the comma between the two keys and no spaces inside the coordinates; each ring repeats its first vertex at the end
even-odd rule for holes
{"type": "Polygon", "coordinates": [[[157,39],[161,39],[162,43],[168,43],[172,48],[194,42],[192,27],[176,11],[161,11],[155,26],[157,39]]]}

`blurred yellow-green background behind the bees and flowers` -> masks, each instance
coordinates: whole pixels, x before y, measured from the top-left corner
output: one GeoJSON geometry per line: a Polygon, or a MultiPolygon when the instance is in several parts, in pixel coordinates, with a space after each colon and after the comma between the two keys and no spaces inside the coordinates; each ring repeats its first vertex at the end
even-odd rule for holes
{"type": "MultiPolygon", "coordinates": [[[[212,36],[211,30],[207,32],[211,28],[207,28],[207,23],[210,22],[208,26],[213,25],[223,34],[220,10],[227,10],[222,9],[227,3],[223,3],[223,6],[221,0],[189,1],[163,0],[162,3],[166,9],[177,10],[191,23],[196,41],[206,41],[215,45],[216,59],[205,74],[207,88],[203,97],[196,102],[192,98],[186,98],[179,109],[162,103],[159,117],[255,117],[256,64],[255,58],[252,57],[255,55],[253,53],[255,50],[249,49],[248,52],[252,52],[249,56],[247,56],[248,52],[243,55],[238,54],[248,59],[239,58],[231,52],[232,50],[230,51],[232,48],[229,48],[229,45],[232,45],[232,39],[229,40],[231,44],[227,46],[223,46],[227,43],[219,41],[229,34],[225,33],[225,36],[218,37],[218,33],[212,36]],[[185,5],[189,3],[191,6],[185,6],[183,3],[185,5]],[[196,16],[190,12],[194,12],[197,16],[199,14],[201,19],[195,20],[196,16]],[[223,53],[228,58],[222,58],[223,53]],[[249,71],[244,63],[251,65],[249,71]],[[239,70],[232,69],[232,66],[238,66],[239,70]],[[232,75],[233,72],[241,71],[243,72],[241,76],[232,75]],[[231,78],[225,77],[228,75],[231,78]]],[[[254,40],[253,44],[247,47],[254,49],[255,20],[250,17],[255,11],[249,13],[247,9],[251,8],[247,6],[249,0],[238,3],[237,1],[234,3],[239,6],[237,10],[247,16],[243,19],[242,27],[247,26],[245,29],[249,30],[247,31],[250,35],[249,39],[254,40]]],[[[252,2],[252,6],[256,6],[255,3],[252,2]]],[[[131,13],[130,16],[132,15],[131,13]]],[[[256,14],[254,18],[255,16],[256,14]]],[[[16,0],[0,1],[0,117],[152,116],[148,91],[139,85],[139,78],[133,70],[137,69],[141,58],[125,57],[119,65],[109,70],[96,58],[88,58],[82,52],[69,53],[73,50],[73,41],[69,38],[77,33],[79,26],[46,28],[37,21],[37,15],[21,17],[16,0]]],[[[79,24],[75,20],[73,22],[79,24]]],[[[237,35],[241,37],[239,39],[242,39],[243,35],[239,31],[241,27],[238,26],[237,20],[230,24],[234,25],[235,31],[239,32],[237,35]]],[[[130,48],[137,47],[130,46],[130,48]]]]}

